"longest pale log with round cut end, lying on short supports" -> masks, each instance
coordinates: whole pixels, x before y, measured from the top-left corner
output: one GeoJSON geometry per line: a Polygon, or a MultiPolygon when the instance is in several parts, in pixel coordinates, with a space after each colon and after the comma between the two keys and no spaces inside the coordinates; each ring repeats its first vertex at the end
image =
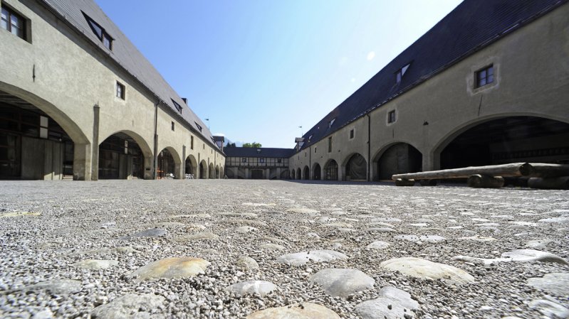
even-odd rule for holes
{"type": "Polygon", "coordinates": [[[528,176],[533,173],[533,168],[529,163],[511,163],[503,165],[492,166],[471,166],[466,168],[451,168],[441,171],[427,171],[418,173],[395,174],[392,175],[392,180],[398,178],[404,180],[432,180],[444,178],[469,178],[471,175],[488,175],[488,176],[503,176],[503,177],[516,177],[528,176]]]}

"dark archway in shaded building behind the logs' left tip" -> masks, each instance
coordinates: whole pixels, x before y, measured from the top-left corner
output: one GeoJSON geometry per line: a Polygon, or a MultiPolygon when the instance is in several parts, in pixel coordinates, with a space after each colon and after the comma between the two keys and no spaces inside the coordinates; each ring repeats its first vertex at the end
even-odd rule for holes
{"type": "Polygon", "coordinates": [[[374,180],[391,180],[394,174],[422,171],[423,155],[411,144],[399,142],[377,152],[373,163],[374,180]]]}

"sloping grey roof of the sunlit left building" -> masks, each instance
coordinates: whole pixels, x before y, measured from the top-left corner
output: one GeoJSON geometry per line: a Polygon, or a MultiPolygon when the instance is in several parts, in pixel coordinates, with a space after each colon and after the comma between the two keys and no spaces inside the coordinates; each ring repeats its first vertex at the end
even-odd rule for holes
{"type": "Polygon", "coordinates": [[[172,100],[182,106],[182,114],[179,114],[189,126],[194,129],[196,134],[201,134],[208,144],[216,147],[212,141],[212,134],[207,128],[207,125],[197,117],[196,114],[190,109],[181,97],[170,87],[164,80],[162,75],[155,69],[152,64],[140,53],[134,44],[128,40],[118,26],[108,18],[108,16],[95,4],[93,0],[38,0],[45,4],[48,9],[56,13],[59,18],[67,21],[79,33],[91,40],[94,45],[103,50],[110,58],[115,60],[116,63],[121,65],[127,72],[136,77],[138,81],[154,93],[159,99],[167,104],[176,114],[179,112],[176,109],[172,100]],[[114,38],[113,50],[108,50],[103,46],[103,43],[95,36],[91,30],[85,16],[92,18],[96,23],[102,26],[105,31],[114,38]],[[199,126],[202,129],[199,129],[199,126]]]}

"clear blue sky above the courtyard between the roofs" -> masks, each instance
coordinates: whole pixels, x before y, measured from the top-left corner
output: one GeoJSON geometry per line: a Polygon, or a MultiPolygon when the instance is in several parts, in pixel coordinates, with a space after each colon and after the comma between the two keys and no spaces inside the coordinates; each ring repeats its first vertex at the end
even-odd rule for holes
{"type": "Polygon", "coordinates": [[[286,148],[461,2],[95,1],[212,133],[286,148]]]}

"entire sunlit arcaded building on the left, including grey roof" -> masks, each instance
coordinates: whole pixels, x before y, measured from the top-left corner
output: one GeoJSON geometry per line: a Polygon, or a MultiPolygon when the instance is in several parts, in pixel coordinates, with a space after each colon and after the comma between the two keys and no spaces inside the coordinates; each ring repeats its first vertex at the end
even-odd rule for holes
{"type": "Polygon", "coordinates": [[[92,0],[0,0],[0,178],[220,178],[207,125],[92,0]]]}

